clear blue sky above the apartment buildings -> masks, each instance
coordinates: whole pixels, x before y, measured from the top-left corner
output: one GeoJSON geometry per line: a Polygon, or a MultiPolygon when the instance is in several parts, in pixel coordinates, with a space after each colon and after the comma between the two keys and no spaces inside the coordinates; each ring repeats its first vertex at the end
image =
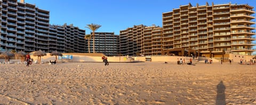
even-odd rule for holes
{"type": "MultiPolygon", "coordinates": [[[[18,0],[19,1],[19,0],[18,0]]],[[[74,24],[75,27],[86,29],[86,24],[96,23],[102,25],[97,32],[115,32],[133,27],[133,25],[152,24],[162,27],[162,13],[170,12],[180,5],[187,5],[189,2],[196,6],[214,4],[249,4],[256,7],[254,0],[25,0],[26,3],[35,4],[37,7],[50,11],[50,23],[63,25],[74,24]]]]}

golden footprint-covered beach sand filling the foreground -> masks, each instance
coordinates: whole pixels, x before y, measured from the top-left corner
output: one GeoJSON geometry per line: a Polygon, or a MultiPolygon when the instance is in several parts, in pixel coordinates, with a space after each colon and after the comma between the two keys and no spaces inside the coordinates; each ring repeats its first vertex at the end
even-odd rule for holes
{"type": "Polygon", "coordinates": [[[256,65],[0,65],[0,104],[256,104],[256,65]]]}

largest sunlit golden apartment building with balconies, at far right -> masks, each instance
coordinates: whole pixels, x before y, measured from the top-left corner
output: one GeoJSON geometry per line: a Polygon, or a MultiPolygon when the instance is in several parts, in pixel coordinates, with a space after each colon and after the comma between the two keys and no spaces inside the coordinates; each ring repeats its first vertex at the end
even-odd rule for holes
{"type": "Polygon", "coordinates": [[[255,51],[252,9],[247,4],[189,3],[163,13],[162,55],[251,55],[255,51]]]}

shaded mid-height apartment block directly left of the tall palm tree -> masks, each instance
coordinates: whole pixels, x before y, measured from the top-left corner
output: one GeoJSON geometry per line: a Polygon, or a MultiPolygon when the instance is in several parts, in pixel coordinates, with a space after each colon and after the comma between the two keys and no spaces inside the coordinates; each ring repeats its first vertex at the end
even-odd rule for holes
{"type": "Polygon", "coordinates": [[[86,52],[84,36],[85,30],[74,27],[73,24],[50,25],[49,51],[86,52]]]}

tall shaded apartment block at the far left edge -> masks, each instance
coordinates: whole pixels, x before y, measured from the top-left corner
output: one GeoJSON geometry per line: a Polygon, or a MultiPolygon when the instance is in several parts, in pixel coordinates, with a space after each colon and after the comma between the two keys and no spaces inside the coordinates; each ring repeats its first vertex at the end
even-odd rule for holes
{"type": "Polygon", "coordinates": [[[49,11],[32,4],[0,1],[0,50],[49,50],[49,11]]]}

